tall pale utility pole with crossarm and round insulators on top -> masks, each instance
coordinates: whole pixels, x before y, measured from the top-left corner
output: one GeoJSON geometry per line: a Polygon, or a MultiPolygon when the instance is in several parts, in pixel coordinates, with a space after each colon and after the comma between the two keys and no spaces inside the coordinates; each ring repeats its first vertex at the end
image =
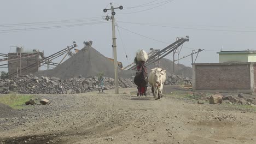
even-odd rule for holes
{"type": "MultiPolygon", "coordinates": [[[[110,3],[111,8],[110,9],[103,9],[104,13],[106,13],[108,10],[111,10],[111,20],[112,20],[112,40],[113,40],[113,52],[114,52],[114,73],[115,73],[115,94],[119,94],[119,88],[118,88],[118,63],[117,63],[117,38],[115,38],[115,11],[114,9],[123,9],[123,6],[120,5],[117,8],[114,8],[112,3],[110,3]]],[[[106,20],[109,20],[109,16],[106,16],[106,20]]]]}

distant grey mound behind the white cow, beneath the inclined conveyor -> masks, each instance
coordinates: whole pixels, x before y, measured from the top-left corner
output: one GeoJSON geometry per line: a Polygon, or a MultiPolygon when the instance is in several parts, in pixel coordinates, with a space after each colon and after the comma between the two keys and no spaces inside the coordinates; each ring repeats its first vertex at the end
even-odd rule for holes
{"type": "MultiPolygon", "coordinates": [[[[166,70],[166,75],[170,76],[173,74],[173,62],[170,59],[162,58],[158,62],[148,65],[148,70],[153,69],[155,67],[160,67],[166,70]]],[[[183,64],[175,64],[174,63],[174,74],[182,75],[187,77],[192,77],[193,71],[191,67],[186,67],[183,64]],[[178,71],[179,69],[179,71],[178,71]]]]}

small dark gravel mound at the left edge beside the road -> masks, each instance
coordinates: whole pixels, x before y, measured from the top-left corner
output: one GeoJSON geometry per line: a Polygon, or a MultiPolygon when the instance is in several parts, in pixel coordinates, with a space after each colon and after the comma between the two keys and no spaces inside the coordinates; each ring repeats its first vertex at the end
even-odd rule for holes
{"type": "Polygon", "coordinates": [[[0,118],[2,117],[14,117],[17,116],[19,112],[17,110],[11,109],[10,106],[0,103],[0,118]]]}

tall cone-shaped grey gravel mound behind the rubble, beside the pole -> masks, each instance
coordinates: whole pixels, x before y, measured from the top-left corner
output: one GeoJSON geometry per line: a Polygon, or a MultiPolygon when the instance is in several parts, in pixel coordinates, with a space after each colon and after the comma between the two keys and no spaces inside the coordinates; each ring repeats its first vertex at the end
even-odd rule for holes
{"type": "Polygon", "coordinates": [[[109,61],[93,47],[85,46],[74,56],[54,69],[39,71],[34,75],[69,79],[78,77],[79,75],[83,77],[95,76],[100,72],[103,72],[106,77],[114,77],[113,62],[109,61]]]}

